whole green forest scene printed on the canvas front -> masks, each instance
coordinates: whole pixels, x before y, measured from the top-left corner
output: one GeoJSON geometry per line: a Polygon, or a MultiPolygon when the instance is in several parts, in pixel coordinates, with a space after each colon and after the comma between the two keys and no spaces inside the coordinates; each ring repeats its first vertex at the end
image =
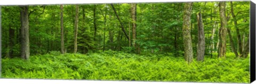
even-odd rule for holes
{"type": "Polygon", "coordinates": [[[250,82],[250,1],[2,6],[2,78],[250,82]]]}

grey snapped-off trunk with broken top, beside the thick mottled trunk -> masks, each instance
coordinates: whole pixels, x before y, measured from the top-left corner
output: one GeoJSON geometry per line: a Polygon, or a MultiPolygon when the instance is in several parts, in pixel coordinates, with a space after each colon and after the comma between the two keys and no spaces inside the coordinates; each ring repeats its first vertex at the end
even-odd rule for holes
{"type": "Polygon", "coordinates": [[[198,46],[197,46],[197,61],[204,61],[204,52],[205,52],[205,37],[204,37],[204,26],[202,14],[197,14],[197,23],[198,23],[198,46]]]}

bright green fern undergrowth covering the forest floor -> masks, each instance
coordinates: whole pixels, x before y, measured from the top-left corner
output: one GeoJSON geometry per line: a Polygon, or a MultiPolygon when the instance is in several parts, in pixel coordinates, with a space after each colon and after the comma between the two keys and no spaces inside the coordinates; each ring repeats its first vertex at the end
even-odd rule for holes
{"type": "MultiPolygon", "coordinates": [[[[215,56],[215,55],[214,55],[215,56]]],[[[173,54],[137,55],[106,51],[90,54],[60,54],[2,59],[3,78],[77,79],[175,82],[236,82],[249,83],[249,57],[226,59],[205,57],[187,64],[173,54]]]]}

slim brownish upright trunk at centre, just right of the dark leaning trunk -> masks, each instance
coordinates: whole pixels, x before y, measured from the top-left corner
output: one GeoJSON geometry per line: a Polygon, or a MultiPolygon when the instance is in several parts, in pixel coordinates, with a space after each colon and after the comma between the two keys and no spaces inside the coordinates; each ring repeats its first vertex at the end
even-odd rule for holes
{"type": "Polygon", "coordinates": [[[132,3],[132,45],[136,48],[137,4],[132,3]]]}

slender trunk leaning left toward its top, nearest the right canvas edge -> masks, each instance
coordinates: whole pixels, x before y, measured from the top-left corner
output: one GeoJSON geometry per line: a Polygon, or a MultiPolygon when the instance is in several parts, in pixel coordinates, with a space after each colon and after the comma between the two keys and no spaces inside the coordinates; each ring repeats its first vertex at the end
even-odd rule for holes
{"type": "Polygon", "coordinates": [[[239,29],[237,27],[237,20],[236,20],[236,16],[234,14],[234,10],[233,10],[233,3],[230,2],[230,7],[231,7],[231,15],[233,17],[233,21],[234,21],[234,24],[235,24],[235,28],[236,28],[236,35],[237,35],[237,39],[238,39],[238,51],[239,53],[242,53],[242,39],[241,39],[241,35],[240,35],[240,32],[239,32],[239,29]]]}

